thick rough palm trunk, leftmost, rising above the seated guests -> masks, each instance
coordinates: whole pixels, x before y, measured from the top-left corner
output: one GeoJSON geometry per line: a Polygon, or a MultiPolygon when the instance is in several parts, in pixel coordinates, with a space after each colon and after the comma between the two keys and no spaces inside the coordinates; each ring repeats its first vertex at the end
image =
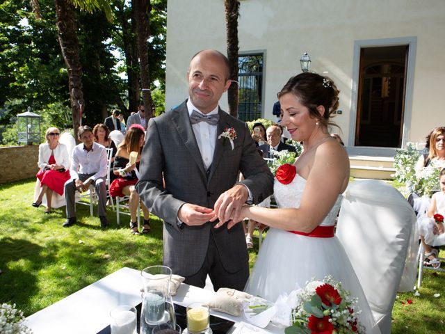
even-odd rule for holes
{"type": "Polygon", "coordinates": [[[82,67],[79,57],[79,40],[76,35],[74,8],[66,0],[55,0],[58,41],[63,59],[68,70],[68,86],[72,111],[74,138],[77,140],[77,128],[81,125],[84,108],[82,91],[82,67]]]}

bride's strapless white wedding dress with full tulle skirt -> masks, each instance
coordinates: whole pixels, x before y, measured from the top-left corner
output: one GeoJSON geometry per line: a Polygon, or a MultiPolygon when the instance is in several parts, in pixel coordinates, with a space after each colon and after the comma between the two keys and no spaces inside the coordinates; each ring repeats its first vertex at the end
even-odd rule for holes
{"type": "MultiPolygon", "coordinates": [[[[290,184],[275,180],[274,196],[278,207],[298,208],[305,184],[306,180],[298,174],[290,184]]],[[[337,198],[320,226],[334,225],[341,199],[341,196],[337,198]]],[[[305,287],[308,280],[323,280],[329,274],[340,281],[351,296],[358,298],[362,310],[359,319],[366,327],[366,333],[380,333],[348,255],[337,237],[307,237],[270,228],[245,291],[275,302],[280,294],[289,294],[305,287]]]]}

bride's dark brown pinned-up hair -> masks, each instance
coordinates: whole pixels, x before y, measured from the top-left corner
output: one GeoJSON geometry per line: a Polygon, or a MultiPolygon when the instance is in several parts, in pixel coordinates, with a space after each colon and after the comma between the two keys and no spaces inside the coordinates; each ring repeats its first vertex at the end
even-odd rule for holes
{"type": "Polygon", "coordinates": [[[338,127],[330,118],[339,107],[340,91],[334,81],[317,73],[305,72],[291,77],[284,85],[277,97],[280,99],[284,94],[296,95],[303,106],[309,109],[311,117],[317,118],[321,125],[327,127],[333,125],[338,127]],[[317,106],[324,106],[323,116],[317,111],[317,106]]]}

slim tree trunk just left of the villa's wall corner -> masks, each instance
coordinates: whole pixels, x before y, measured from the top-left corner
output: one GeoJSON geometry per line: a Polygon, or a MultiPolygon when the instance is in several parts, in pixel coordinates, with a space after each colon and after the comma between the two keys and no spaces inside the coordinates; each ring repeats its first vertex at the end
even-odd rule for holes
{"type": "Polygon", "coordinates": [[[142,97],[145,106],[145,120],[148,122],[152,118],[152,93],[149,90],[150,77],[148,68],[148,47],[147,40],[149,37],[149,15],[152,6],[149,0],[133,0],[135,17],[136,17],[136,31],[138,41],[138,55],[140,64],[140,86],[142,86],[142,97]]]}

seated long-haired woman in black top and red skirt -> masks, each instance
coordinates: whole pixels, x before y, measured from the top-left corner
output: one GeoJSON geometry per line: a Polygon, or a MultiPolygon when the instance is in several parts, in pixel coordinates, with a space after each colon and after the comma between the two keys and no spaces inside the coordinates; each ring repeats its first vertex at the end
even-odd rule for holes
{"type": "Polygon", "coordinates": [[[139,124],[131,125],[127,130],[127,134],[125,134],[124,141],[119,145],[118,153],[116,153],[114,160],[113,171],[115,175],[119,175],[119,177],[114,180],[110,186],[110,195],[112,197],[129,196],[131,234],[139,234],[136,217],[139,202],[144,214],[144,227],[142,232],[146,234],[150,230],[150,213],[144,203],[140,201],[139,195],[136,189],[134,189],[134,184],[138,182],[139,178],[140,152],[142,152],[144,142],[145,132],[143,126],[139,124]],[[138,152],[138,157],[133,164],[130,164],[130,152],[138,152]]]}

